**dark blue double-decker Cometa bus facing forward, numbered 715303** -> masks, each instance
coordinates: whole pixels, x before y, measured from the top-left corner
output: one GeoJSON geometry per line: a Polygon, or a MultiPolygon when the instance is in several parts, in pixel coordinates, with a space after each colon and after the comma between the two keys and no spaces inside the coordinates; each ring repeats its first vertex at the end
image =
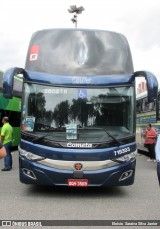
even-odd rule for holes
{"type": "Polygon", "coordinates": [[[89,29],[46,29],[33,34],[25,69],[4,74],[12,97],[23,74],[20,181],[59,186],[122,186],[136,167],[135,77],[157,96],[156,77],[134,72],[126,38],[89,29]]]}

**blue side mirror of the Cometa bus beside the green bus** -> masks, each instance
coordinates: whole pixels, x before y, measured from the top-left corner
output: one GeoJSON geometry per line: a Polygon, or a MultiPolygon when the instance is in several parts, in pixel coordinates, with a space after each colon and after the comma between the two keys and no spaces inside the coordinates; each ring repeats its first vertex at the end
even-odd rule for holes
{"type": "Polygon", "coordinates": [[[9,68],[3,74],[3,96],[5,98],[11,99],[13,97],[13,81],[14,76],[17,74],[23,74],[23,68],[9,68]]]}

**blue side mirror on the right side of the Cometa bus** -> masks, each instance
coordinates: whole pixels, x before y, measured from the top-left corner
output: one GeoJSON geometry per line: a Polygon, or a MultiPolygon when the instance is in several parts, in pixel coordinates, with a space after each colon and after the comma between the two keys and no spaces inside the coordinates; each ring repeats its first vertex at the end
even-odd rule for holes
{"type": "Polygon", "coordinates": [[[156,76],[147,71],[137,71],[133,74],[133,77],[144,77],[147,82],[147,89],[148,89],[148,102],[151,103],[155,99],[157,99],[158,95],[158,81],[156,76]]]}

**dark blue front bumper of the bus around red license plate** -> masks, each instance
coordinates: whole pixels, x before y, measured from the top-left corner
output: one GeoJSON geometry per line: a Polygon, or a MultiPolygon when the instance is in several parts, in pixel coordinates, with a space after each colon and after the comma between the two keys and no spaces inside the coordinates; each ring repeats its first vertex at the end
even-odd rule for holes
{"type": "Polygon", "coordinates": [[[84,171],[49,167],[21,156],[19,164],[20,181],[25,184],[68,186],[68,181],[74,183],[78,180],[86,181],[85,186],[126,186],[134,183],[136,159],[112,167],[84,171]]]}

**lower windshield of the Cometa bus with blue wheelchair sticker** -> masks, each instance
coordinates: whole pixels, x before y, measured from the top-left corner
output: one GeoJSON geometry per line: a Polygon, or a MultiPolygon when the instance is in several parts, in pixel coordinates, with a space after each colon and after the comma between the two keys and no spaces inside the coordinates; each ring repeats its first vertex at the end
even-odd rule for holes
{"type": "Polygon", "coordinates": [[[134,133],[133,95],[133,86],[91,89],[25,83],[22,130],[54,141],[124,138],[134,133]]]}

